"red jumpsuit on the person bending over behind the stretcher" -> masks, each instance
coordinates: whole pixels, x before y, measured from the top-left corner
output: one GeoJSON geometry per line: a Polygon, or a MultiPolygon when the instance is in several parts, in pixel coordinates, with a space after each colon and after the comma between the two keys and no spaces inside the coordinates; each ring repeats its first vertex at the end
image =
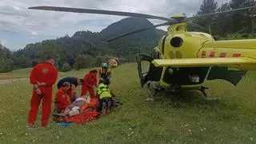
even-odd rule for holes
{"type": "Polygon", "coordinates": [[[88,73],[83,78],[83,85],[82,85],[82,95],[85,95],[89,90],[90,98],[96,98],[94,94],[93,86],[97,86],[97,77],[94,74],[88,73]]]}

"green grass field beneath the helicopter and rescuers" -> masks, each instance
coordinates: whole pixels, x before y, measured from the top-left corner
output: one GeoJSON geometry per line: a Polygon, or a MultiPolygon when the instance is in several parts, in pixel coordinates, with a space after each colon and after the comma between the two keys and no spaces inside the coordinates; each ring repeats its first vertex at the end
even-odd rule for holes
{"type": "MultiPolygon", "coordinates": [[[[60,73],[83,77],[86,70],[60,73]]],[[[0,74],[0,79],[26,78],[30,69],[0,74]]],[[[113,71],[110,88],[123,102],[110,115],[86,125],[49,126],[27,130],[31,86],[28,80],[0,84],[0,143],[256,143],[256,73],[238,86],[215,80],[206,82],[209,94],[220,102],[204,102],[200,93],[183,94],[171,101],[164,93],[145,102],[146,89],[138,81],[136,64],[113,71]]],[[[54,90],[55,93],[55,90],[54,90]]],[[[54,97],[53,97],[54,98],[54,97]]]]}

